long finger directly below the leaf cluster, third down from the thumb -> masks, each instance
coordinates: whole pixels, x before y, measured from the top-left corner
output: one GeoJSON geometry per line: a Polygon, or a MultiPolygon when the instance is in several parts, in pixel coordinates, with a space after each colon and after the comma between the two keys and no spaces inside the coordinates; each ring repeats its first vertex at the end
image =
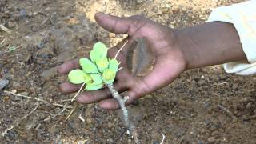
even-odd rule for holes
{"type": "MultiPolygon", "coordinates": [[[[114,88],[119,92],[123,92],[126,90],[126,87],[122,87],[122,85],[118,83],[114,84],[114,88]]],[[[82,94],[79,94],[77,98],[77,102],[87,104],[87,103],[99,102],[105,98],[111,98],[110,90],[108,90],[107,88],[104,88],[101,90],[86,91],[82,94]]]]}

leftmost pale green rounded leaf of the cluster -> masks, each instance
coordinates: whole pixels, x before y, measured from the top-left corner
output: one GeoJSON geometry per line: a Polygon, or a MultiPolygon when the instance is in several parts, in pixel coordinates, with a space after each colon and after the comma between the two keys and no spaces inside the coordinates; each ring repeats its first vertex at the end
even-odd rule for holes
{"type": "Polygon", "coordinates": [[[81,84],[84,82],[90,82],[91,78],[89,74],[86,74],[83,70],[71,70],[68,74],[68,78],[73,84],[81,84]]]}

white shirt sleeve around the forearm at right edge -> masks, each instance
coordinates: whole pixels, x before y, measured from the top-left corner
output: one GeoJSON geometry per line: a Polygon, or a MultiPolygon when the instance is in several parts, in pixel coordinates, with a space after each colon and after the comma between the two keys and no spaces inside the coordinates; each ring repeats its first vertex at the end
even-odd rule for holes
{"type": "Polygon", "coordinates": [[[248,62],[223,64],[227,73],[256,74],[256,1],[247,1],[214,9],[207,22],[230,22],[238,31],[248,62]]]}

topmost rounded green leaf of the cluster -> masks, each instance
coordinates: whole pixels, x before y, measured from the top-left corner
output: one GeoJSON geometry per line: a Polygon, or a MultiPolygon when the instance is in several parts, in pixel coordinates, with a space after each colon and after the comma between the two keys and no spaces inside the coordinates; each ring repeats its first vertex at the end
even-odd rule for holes
{"type": "Polygon", "coordinates": [[[96,62],[99,59],[106,58],[107,48],[102,42],[94,44],[94,49],[90,51],[90,60],[96,62]]]}

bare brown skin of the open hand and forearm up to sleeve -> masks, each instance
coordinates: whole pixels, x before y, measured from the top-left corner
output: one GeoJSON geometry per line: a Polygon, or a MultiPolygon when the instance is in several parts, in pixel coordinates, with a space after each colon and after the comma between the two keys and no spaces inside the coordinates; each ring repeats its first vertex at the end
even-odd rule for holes
{"type": "MultiPolygon", "coordinates": [[[[95,19],[98,25],[112,33],[128,34],[129,41],[146,38],[154,50],[154,70],[145,77],[134,77],[126,68],[118,71],[114,87],[119,92],[127,91],[130,99],[126,105],[170,84],[185,70],[224,62],[246,61],[237,31],[232,24],[226,22],[209,22],[174,30],[141,16],[118,18],[98,13],[95,14],[95,19]]],[[[116,51],[114,49],[110,50],[112,57],[116,51]]],[[[125,55],[126,50],[122,50],[122,54],[118,56],[124,67],[125,55]]],[[[58,67],[58,73],[68,74],[70,70],[78,67],[77,60],[66,62],[58,67]]],[[[80,88],[69,82],[62,83],[60,87],[64,93],[73,93],[80,88]]],[[[118,102],[111,97],[107,89],[86,91],[78,96],[77,102],[98,102],[98,106],[103,110],[119,108],[118,102]]]]}

